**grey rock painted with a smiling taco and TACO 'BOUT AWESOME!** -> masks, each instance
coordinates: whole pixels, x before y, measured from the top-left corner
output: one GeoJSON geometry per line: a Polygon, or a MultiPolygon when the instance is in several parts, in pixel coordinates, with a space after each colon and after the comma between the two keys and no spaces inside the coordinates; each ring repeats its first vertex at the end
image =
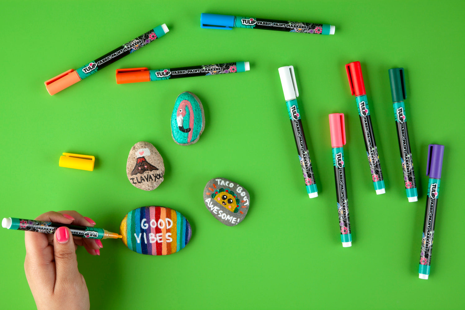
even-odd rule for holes
{"type": "Polygon", "coordinates": [[[247,215],[250,205],[249,192],[227,178],[212,178],[204,189],[204,201],[208,211],[221,223],[235,226],[247,215]]]}

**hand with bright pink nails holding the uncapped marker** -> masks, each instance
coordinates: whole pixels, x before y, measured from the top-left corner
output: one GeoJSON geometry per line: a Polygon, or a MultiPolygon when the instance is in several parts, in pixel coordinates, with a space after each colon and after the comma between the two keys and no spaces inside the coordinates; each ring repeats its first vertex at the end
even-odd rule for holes
{"type": "MultiPolygon", "coordinates": [[[[46,212],[38,221],[93,226],[95,222],[76,211],[46,212]]],[[[91,255],[100,255],[98,239],[75,237],[67,227],[52,234],[25,231],[27,283],[38,310],[89,309],[86,281],[79,273],[76,249],[83,245],[91,255]]]]}

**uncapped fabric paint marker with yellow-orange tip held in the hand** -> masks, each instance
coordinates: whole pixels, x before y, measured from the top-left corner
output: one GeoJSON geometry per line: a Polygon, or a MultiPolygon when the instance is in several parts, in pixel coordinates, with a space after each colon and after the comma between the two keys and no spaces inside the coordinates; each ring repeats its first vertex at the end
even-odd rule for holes
{"type": "Polygon", "coordinates": [[[23,218],[3,218],[3,220],[1,221],[1,225],[3,228],[7,229],[13,229],[18,231],[35,231],[42,232],[44,234],[53,234],[58,228],[65,226],[69,228],[73,236],[84,237],[89,239],[117,239],[123,237],[120,234],[117,234],[116,232],[106,231],[102,228],[97,227],[43,222],[23,218]]]}

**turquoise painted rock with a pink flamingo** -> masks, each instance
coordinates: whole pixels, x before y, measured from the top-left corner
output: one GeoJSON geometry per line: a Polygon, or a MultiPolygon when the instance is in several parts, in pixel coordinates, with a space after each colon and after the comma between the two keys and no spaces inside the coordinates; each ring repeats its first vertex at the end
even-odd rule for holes
{"type": "Polygon", "coordinates": [[[171,136],[179,145],[190,145],[199,141],[205,128],[202,103],[192,92],[183,92],[174,103],[171,114],[171,136]]]}

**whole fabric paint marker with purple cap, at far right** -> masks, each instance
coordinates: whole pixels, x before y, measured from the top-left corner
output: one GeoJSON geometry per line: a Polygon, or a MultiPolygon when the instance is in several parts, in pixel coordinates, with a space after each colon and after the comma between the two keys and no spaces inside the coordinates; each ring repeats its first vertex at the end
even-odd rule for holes
{"type": "Polygon", "coordinates": [[[431,266],[431,251],[434,237],[434,224],[436,221],[436,207],[438,205],[439,185],[441,184],[442,159],[444,145],[430,144],[428,146],[428,161],[426,175],[428,181],[428,196],[426,198],[425,224],[423,224],[423,238],[421,239],[420,264],[418,277],[428,279],[431,266]]]}

